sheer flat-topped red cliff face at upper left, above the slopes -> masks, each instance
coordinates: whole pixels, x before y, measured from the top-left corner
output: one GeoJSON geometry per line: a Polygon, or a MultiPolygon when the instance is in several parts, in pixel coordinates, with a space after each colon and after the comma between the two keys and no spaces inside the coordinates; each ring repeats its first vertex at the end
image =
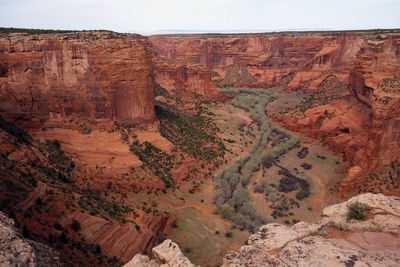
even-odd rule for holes
{"type": "Polygon", "coordinates": [[[153,122],[151,59],[139,35],[0,35],[0,112],[153,122]]]}

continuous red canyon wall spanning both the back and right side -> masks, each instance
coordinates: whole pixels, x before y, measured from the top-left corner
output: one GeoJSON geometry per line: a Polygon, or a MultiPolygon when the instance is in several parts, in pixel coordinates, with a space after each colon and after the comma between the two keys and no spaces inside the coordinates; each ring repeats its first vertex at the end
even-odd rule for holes
{"type": "Polygon", "coordinates": [[[305,108],[273,117],[344,153],[352,166],[342,194],[399,159],[398,33],[156,35],[149,40],[168,60],[207,67],[218,87],[284,86],[310,94],[305,108]]]}

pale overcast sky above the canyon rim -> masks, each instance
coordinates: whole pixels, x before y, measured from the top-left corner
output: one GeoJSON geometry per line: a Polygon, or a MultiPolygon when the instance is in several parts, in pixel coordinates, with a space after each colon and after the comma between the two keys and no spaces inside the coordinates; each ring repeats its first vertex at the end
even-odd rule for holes
{"type": "Polygon", "coordinates": [[[0,0],[0,26],[138,33],[400,28],[400,0],[0,0]]]}

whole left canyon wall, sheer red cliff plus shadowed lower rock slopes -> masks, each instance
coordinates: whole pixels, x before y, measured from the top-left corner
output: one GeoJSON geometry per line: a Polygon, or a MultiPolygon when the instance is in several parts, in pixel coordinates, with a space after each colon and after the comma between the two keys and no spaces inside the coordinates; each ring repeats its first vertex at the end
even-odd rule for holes
{"type": "MultiPolygon", "coordinates": [[[[59,242],[61,231],[54,224],[60,223],[69,228],[67,238],[73,242],[68,243],[99,245],[103,255],[122,261],[138,252],[151,253],[158,243],[168,215],[137,210],[124,213],[121,223],[99,214],[107,198],[97,199],[103,203],[100,208],[82,206],[87,195],[131,188],[127,174],[142,163],[129,151],[129,140],[121,141],[113,120],[156,120],[153,57],[151,44],[132,34],[0,35],[0,204],[21,228],[27,225],[35,239],[51,243],[51,235],[59,242]],[[13,136],[17,130],[7,132],[2,117],[23,127],[33,140],[24,143],[13,136]],[[43,154],[46,140],[58,140],[73,160],[72,171],[49,162],[43,154]],[[59,181],[64,174],[70,180],[59,181]],[[78,233],[70,228],[73,219],[80,222],[78,233]]],[[[171,146],[155,127],[143,131],[137,132],[141,142],[171,146]]],[[[121,202],[114,202],[117,210],[121,202]]],[[[100,264],[92,254],[79,255],[83,253],[74,246],[62,251],[65,258],[78,253],[71,260],[77,265],[100,264]]]]}

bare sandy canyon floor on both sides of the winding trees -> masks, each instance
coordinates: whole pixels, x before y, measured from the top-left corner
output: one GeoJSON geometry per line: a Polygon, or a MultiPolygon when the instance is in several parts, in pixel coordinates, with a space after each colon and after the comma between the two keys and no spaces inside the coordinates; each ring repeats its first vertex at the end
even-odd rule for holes
{"type": "MultiPolygon", "coordinates": [[[[277,104],[279,102],[286,103],[287,108],[291,105],[294,108],[302,99],[302,96],[286,93],[281,88],[262,90],[274,96],[274,101],[265,107],[267,114],[280,112],[279,107],[282,104],[277,104]]],[[[221,130],[218,133],[219,138],[228,140],[225,142],[228,152],[223,166],[220,167],[224,169],[251,153],[252,144],[259,136],[260,130],[249,112],[233,106],[230,101],[210,104],[208,110],[221,130]]],[[[337,184],[345,176],[343,170],[346,164],[318,140],[300,134],[298,136],[299,143],[296,147],[280,156],[279,162],[270,168],[255,171],[247,186],[251,201],[270,217],[271,222],[291,225],[300,220],[317,221],[324,207],[338,201],[337,184]],[[301,155],[301,151],[306,151],[305,155],[301,155]],[[310,168],[303,168],[304,163],[310,168]],[[296,200],[296,192],[280,192],[280,168],[285,168],[296,177],[306,180],[310,185],[310,195],[296,200]],[[261,179],[268,181],[269,196],[254,190],[254,186],[260,183],[261,179]],[[275,218],[271,214],[276,214],[275,218]]],[[[195,190],[192,188],[193,183],[187,183],[167,195],[132,194],[128,196],[127,203],[132,206],[152,203],[159,211],[172,215],[176,221],[167,225],[162,238],[171,239],[179,244],[194,264],[217,266],[222,263],[223,255],[227,251],[238,249],[251,233],[218,214],[212,179],[203,180],[195,190]]]]}

